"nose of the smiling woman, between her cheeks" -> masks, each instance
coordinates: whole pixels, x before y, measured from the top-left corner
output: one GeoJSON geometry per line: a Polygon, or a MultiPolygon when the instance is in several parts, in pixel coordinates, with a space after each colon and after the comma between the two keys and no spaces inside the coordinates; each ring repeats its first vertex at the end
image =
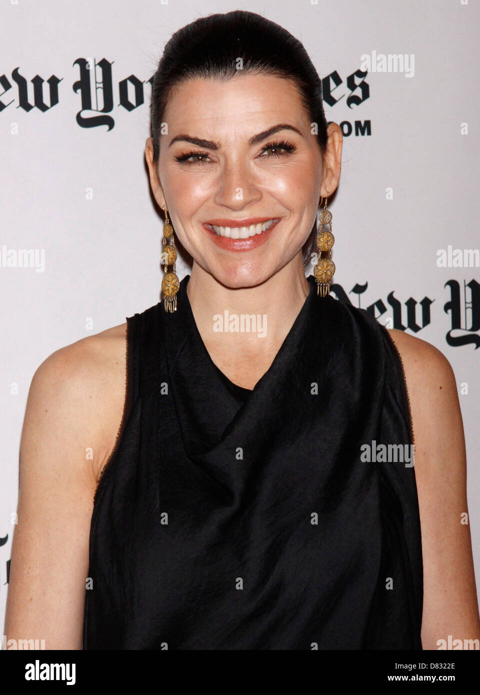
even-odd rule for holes
{"type": "Polygon", "coordinates": [[[239,158],[224,163],[217,181],[214,202],[232,210],[241,210],[262,197],[246,162],[239,158]]]}

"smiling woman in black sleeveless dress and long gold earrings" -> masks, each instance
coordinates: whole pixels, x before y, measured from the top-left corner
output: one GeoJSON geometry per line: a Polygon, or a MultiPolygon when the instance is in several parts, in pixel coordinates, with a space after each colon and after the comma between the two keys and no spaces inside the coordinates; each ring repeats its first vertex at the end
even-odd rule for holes
{"type": "Polygon", "coordinates": [[[155,75],[151,135],[171,222],[164,302],[33,377],[7,637],[74,649],[478,638],[452,368],[329,295],[342,135],[304,47],[242,11],[181,28],[155,75]],[[193,259],[179,285],[175,240],[193,259]],[[415,466],[365,457],[413,443],[415,466]]]}

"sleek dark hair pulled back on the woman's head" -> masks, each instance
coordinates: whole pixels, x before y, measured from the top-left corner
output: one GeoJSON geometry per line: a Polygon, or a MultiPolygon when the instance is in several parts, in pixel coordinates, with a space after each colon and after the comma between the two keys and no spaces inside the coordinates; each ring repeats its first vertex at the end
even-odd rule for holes
{"type": "MultiPolygon", "coordinates": [[[[154,74],[151,97],[151,137],[158,162],[159,137],[165,109],[174,88],[196,77],[231,79],[243,74],[270,74],[295,84],[311,123],[317,124],[317,140],[326,149],[326,118],[322,80],[304,45],[289,31],[256,13],[234,10],[200,17],[176,31],[165,45],[154,74]]],[[[302,249],[304,267],[316,249],[316,224],[302,249]]]]}

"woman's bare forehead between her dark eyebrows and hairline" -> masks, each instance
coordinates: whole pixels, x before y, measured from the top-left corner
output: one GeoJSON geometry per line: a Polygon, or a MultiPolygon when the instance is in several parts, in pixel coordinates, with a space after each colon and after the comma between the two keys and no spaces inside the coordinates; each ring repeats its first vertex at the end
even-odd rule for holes
{"type": "Polygon", "coordinates": [[[229,140],[243,133],[251,136],[277,123],[299,130],[308,126],[307,113],[292,81],[265,74],[239,75],[225,81],[190,79],[174,90],[163,120],[170,138],[188,133],[229,140]]]}

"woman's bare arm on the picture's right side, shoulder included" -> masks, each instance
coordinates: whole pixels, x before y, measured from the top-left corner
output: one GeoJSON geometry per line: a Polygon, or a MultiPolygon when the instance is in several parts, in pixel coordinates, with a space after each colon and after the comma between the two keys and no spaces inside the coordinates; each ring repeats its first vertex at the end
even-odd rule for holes
{"type": "Polygon", "coordinates": [[[430,343],[396,329],[389,333],[402,357],[411,405],[422,529],[422,646],[438,649],[444,640],[444,648],[452,649],[461,639],[463,649],[479,649],[465,436],[455,375],[430,343]]]}

